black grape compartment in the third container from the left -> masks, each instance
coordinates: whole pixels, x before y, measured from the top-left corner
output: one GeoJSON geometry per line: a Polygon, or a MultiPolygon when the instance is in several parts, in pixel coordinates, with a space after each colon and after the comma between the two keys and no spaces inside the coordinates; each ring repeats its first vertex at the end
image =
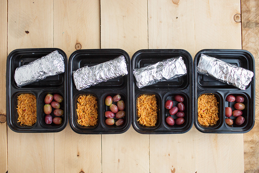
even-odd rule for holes
{"type": "MultiPolygon", "coordinates": [[[[163,99],[163,116],[162,116],[162,119],[163,119],[163,123],[164,123],[164,125],[165,125],[165,127],[167,127],[168,129],[170,129],[170,130],[182,130],[182,129],[184,129],[184,128],[186,128],[186,126],[192,126],[192,124],[191,124],[191,110],[190,110],[190,108],[189,108],[189,105],[190,105],[190,99],[189,99],[189,97],[186,95],[186,94],[184,94],[184,93],[168,93],[167,95],[165,95],[165,97],[164,97],[164,99],[163,99]],[[176,123],[174,124],[174,125],[168,125],[167,123],[166,123],[166,121],[165,121],[165,119],[168,117],[168,116],[171,116],[173,119],[174,119],[174,121],[178,118],[177,116],[176,116],[176,114],[174,114],[174,115],[170,115],[170,113],[169,113],[169,109],[167,109],[167,108],[165,108],[165,102],[167,101],[167,100],[172,100],[173,101],[173,107],[174,106],[177,106],[177,104],[179,103],[178,101],[176,101],[175,99],[174,99],[174,96],[176,96],[176,95],[180,95],[180,96],[182,96],[182,97],[184,97],[184,101],[182,102],[183,104],[184,104],[184,123],[183,124],[181,124],[181,125],[177,125],[176,123]]],[[[179,111],[178,111],[179,112],[179,111]]]]}

